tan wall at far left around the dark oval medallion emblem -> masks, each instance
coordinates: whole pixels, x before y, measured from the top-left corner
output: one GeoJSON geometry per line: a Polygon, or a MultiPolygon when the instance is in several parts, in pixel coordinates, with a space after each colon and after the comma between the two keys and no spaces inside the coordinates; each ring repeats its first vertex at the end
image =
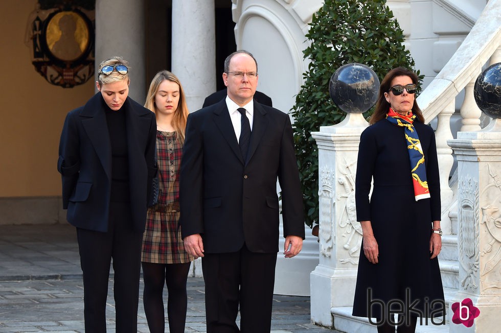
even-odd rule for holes
{"type": "Polygon", "coordinates": [[[36,3],[0,2],[0,198],[60,195],[56,163],[64,117],[94,94],[92,81],[61,88],[35,71],[24,40],[36,3]]]}

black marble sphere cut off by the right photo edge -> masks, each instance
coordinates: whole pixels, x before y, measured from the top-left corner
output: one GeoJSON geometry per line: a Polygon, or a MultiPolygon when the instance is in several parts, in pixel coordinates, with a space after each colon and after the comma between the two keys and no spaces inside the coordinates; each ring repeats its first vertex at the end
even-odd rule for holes
{"type": "Polygon", "coordinates": [[[482,112],[501,119],[501,62],[490,65],[476,78],[473,96],[482,112]]]}

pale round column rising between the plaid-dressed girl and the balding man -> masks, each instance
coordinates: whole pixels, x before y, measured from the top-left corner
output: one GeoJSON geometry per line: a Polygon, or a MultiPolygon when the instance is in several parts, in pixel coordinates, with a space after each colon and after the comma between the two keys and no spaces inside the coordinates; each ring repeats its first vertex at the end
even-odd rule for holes
{"type": "Polygon", "coordinates": [[[183,84],[190,112],[216,91],[214,0],[172,1],[172,72],[183,84]]]}

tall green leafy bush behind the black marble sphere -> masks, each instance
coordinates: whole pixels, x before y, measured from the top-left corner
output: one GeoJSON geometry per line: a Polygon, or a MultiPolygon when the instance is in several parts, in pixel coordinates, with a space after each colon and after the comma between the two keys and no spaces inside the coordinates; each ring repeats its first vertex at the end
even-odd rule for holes
{"type": "MultiPolygon", "coordinates": [[[[318,151],[310,133],[345,117],[329,97],[332,74],[352,62],[371,67],[380,81],[394,67],[415,69],[414,60],[402,44],[402,29],[383,0],[326,0],[313,15],[306,37],[310,46],[303,53],[310,63],[291,114],[295,118],[294,144],[305,222],[312,227],[318,223],[318,151]]],[[[372,112],[373,109],[364,116],[369,117],[372,112]]]]}

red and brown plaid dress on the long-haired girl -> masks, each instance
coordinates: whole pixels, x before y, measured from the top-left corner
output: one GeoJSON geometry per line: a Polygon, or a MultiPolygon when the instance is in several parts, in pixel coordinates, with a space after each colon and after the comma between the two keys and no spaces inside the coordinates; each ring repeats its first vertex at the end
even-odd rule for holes
{"type": "Polygon", "coordinates": [[[141,261],[182,264],[193,261],[185,251],[179,221],[179,167],[183,147],[176,132],[156,131],[158,204],[148,208],[141,261]]]}

